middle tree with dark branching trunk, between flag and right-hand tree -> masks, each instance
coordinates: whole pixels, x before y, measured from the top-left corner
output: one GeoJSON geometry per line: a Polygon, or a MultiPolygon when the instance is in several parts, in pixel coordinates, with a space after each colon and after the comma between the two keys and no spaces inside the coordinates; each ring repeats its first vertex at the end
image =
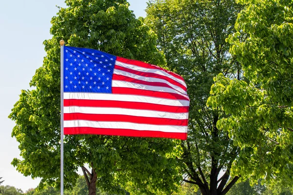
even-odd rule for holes
{"type": "Polygon", "coordinates": [[[158,35],[168,68],[183,75],[188,85],[188,139],[181,143],[178,162],[183,177],[190,178],[184,181],[198,185],[203,195],[226,194],[240,176],[229,180],[239,148],[216,126],[222,111],[206,103],[217,74],[242,78],[225,41],[235,32],[241,7],[234,0],[153,0],[146,10],[146,22],[158,35]]]}

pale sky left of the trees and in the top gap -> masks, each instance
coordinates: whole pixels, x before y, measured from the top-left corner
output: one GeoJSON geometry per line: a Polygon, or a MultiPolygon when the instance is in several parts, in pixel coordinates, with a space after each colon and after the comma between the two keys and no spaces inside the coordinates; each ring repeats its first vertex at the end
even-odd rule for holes
{"type": "MultiPolygon", "coordinates": [[[[128,0],[136,17],[145,17],[146,1],[128,0]]],[[[42,42],[50,39],[51,18],[64,0],[0,0],[0,177],[2,185],[23,192],[38,186],[41,179],[25,177],[11,165],[20,158],[19,143],[11,137],[15,122],[8,118],[21,89],[29,89],[35,71],[46,53],[42,42]]]]}

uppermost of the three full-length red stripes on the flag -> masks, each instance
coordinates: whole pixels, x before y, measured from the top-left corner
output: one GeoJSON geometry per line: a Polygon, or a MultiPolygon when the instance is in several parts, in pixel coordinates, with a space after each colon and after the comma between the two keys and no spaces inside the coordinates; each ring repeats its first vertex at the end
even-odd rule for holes
{"type": "Polygon", "coordinates": [[[83,107],[111,107],[129,108],[140,110],[155,110],[172,113],[187,113],[188,106],[168,106],[144,102],[127,102],[116,100],[95,100],[95,99],[64,99],[64,106],[83,106],[83,107]]]}

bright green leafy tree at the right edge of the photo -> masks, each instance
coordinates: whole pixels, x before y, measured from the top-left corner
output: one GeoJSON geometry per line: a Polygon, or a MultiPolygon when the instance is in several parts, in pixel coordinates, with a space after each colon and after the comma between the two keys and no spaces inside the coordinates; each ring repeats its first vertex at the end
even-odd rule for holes
{"type": "Polygon", "coordinates": [[[236,33],[227,41],[246,80],[214,78],[208,104],[222,109],[217,127],[229,132],[240,155],[234,174],[267,181],[293,174],[293,4],[239,0],[236,33]],[[244,37],[245,39],[240,39],[244,37]]]}

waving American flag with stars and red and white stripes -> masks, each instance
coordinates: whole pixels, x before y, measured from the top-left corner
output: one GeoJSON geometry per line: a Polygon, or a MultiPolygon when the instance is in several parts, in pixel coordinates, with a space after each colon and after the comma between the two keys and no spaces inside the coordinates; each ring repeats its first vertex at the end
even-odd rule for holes
{"type": "Polygon", "coordinates": [[[64,135],[187,138],[181,76],[98,50],[63,48],[64,135]]]}

